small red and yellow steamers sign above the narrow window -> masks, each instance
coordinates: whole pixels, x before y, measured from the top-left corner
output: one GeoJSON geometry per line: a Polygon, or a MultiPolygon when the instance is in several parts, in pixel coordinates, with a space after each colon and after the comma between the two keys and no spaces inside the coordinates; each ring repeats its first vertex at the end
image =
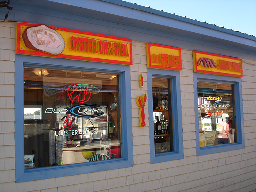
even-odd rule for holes
{"type": "Polygon", "coordinates": [[[180,48],[147,43],[146,51],[149,68],[182,70],[180,48]]]}

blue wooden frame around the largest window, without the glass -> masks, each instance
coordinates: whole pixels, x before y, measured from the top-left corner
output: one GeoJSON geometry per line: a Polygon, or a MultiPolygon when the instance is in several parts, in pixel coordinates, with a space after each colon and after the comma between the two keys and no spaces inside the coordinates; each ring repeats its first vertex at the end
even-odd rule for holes
{"type": "Polygon", "coordinates": [[[37,56],[15,56],[15,165],[16,182],[41,180],[133,166],[132,112],[130,66],[84,62],[37,56]],[[122,127],[122,156],[117,159],[89,163],[48,166],[35,169],[24,168],[24,67],[115,73],[120,76],[120,117],[122,127]]]}

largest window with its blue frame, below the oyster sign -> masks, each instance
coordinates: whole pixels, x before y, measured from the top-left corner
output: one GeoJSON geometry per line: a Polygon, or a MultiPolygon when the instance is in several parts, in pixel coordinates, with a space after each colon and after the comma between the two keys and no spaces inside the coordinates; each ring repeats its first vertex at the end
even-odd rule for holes
{"type": "Polygon", "coordinates": [[[85,70],[80,61],[72,62],[72,67],[65,62],[61,69],[58,60],[51,67],[23,62],[22,92],[20,82],[16,85],[16,144],[22,142],[16,145],[16,182],[133,164],[127,142],[132,139],[131,121],[125,120],[131,118],[129,67],[118,70],[114,64],[94,63],[85,70]],[[115,72],[106,69],[113,66],[115,72]]]}

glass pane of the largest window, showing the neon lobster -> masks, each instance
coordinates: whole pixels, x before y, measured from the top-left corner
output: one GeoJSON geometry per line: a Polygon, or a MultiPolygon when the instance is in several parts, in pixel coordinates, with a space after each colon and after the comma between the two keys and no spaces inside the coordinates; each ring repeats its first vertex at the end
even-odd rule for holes
{"type": "Polygon", "coordinates": [[[119,75],[24,68],[25,169],[122,157],[119,75]]]}

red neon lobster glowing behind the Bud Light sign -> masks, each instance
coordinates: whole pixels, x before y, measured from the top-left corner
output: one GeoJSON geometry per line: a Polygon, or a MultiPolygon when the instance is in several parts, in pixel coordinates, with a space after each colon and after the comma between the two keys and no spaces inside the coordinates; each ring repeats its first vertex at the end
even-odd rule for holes
{"type": "MultiPolygon", "coordinates": [[[[90,97],[91,97],[91,92],[90,92],[90,90],[89,90],[88,88],[85,88],[83,92],[79,92],[79,94],[76,94],[75,91],[77,90],[77,88],[78,88],[78,85],[75,84],[75,83],[73,83],[73,84],[71,84],[70,86],[68,86],[68,91],[67,91],[67,92],[68,92],[68,97],[69,97],[69,99],[71,100],[71,106],[73,105],[73,102],[74,102],[75,98],[78,98],[78,102],[79,102],[79,103],[85,103],[85,102],[87,102],[87,101],[90,99],[90,97]],[[86,95],[88,94],[88,92],[89,92],[89,96],[88,96],[88,98],[86,99],[85,97],[86,97],[86,95]],[[80,100],[80,95],[81,95],[81,93],[84,94],[82,100],[80,100]]],[[[73,126],[72,126],[72,122],[73,122],[73,121],[74,121],[74,117],[73,117],[73,116],[68,116],[68,114],[67,114],[67,117],[66,117],[66,120],[65,120],[64,123],[63,123],[63,126],[66,127],[66,128],[68,128],[68,129],[71,129],[71,128],[73,127],[73,126]],[[64,125],[65,123],[66,123],[66,126],[64,125]],[[69,126],[70,126],[70,127],[69,127],[69,126]]]]}

